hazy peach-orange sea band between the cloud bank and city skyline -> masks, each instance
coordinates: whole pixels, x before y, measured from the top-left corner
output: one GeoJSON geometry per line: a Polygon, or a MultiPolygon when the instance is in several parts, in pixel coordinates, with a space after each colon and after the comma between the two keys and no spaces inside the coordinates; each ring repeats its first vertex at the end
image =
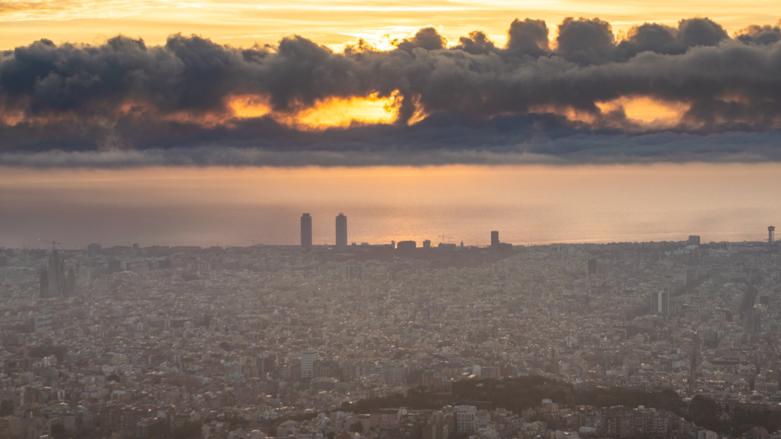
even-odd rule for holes
{"type": "Polygon", "coordinates": [[[763,241],[781,164],[16,170],[0,177],[0,245],[763,241]],[[729,177],[729,178],[726,178],[729,177]]]}

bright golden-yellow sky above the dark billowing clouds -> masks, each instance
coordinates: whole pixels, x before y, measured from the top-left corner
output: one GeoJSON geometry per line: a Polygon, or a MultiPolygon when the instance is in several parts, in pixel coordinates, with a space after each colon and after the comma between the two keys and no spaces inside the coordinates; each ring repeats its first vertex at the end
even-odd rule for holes
{"type": "Polygon", "coordinates": [[[503,45],[512,19],[526,16],[544,19],[554,30],[565,16],[598,16],[611,22],[616,32],[645,21],[672,24],[684,17],[708,16],[732,34],[749,24],[776,23],[781,18],[781,2],[6,0],[0,2],[0,48],[27,45],[41,37],[99,43],[119,33],[156,45],[177,32],[238,46],[275,43],[295,33],[337,49],[364,37],[383,48],[387,47],[383,35],[410,35],[430,25],[451,43],[470,30],[484,30],[503,45]]]}

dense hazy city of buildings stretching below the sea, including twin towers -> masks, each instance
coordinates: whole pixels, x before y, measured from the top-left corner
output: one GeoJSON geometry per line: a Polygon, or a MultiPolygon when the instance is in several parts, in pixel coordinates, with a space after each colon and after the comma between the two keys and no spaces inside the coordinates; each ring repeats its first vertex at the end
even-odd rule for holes
{"type": "Polygon", "coordinates": [[[0,248],[0,437],[778,439],[773,235],[0,248]]]}

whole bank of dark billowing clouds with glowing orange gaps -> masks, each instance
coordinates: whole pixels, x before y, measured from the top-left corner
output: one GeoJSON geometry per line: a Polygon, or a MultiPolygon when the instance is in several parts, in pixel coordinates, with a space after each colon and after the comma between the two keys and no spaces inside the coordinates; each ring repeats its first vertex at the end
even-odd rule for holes
{"type": "Polygon", "coordinates": [[[692,18],[677,27],[644,23],[617,42],[607,22],[568,18],[553,45],[549,33],[542,20],[514,20],[503,48],[480,31],[447,48],[427,27],[395,50],[359,41],[344,53],[298,36],[252,48],[181,34],[162,46],[123,36],[102,45],[44,39],[4,54],[0,63],[0,164],[75,166],[62,159],[70,153],[95,166],[109,166],[110,157],[126,166],[133,161],[127,157],[199,164],[221,154],[241,164],[242,148],[276,162],[286,154],[311,159],[314,152],[314,161],[348,162],[360,162],[348,157],[361,154],[387,162],[394,154],[431,162],[486,155],[554,162],[778,159],[777,142],[758,147],[737,140],[775,139],[781,128],[779,27],[748,27],[730,38],[718,23],[692,18]],[[328,98],[395,93],[394,125],[319,132],[269,116],[237,119],[226,104],[232,96],[259,95],[275,114],[291,115],[328,98]],[[627,97],[688,110],[662,134],[622,109],[598,105],[627,97]],[[580,116],[565,117],[572,112],[580,116]],[[429,116],[408,126],[421,113],[429,116]],[[735,148],[711,146],[719,133],[738,136],[735,148]],[[668,143],[642,145],[640,138],[668,143]],[[96,152],[117,148],[136,150],[96,152]]]}

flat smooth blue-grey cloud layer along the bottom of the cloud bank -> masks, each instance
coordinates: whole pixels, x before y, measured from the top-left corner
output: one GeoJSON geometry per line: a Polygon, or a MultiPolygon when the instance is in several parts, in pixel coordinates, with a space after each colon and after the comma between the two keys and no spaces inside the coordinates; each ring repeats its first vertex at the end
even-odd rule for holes
{"type": "MultiPolygon", "coordinates": [[[[429,133],[433,134],[433,133],[429,133]]],[[[474,135],[479,132],[473,133],[474,135]]],[[[482,133],[488,134],[491,133],[482,133]]],[[[511,136],[512,137],[512,136],[511,136]]],[[[498,139],[487,140],[487,143],[498,139]]],[[[505,138],[504,140],[508,140],[505,138]]],[[[418,139],[415,139],[418,141],[418,139]]],[[[481,139],[484,145],[486,140],[481,139]]],[[[453,163],[476,165],[577,165],[652,162],[767,162],[781,161],[781,134],[658,133],[579,134],[559,138],[523,139],[522,144],[500,148],[375,149],[349,148],[280,151],[247,146],[198,145],[119,151],[0,152],[0,166],[30,168],[119,168],[128,166],[437,166],[453,163]]],[[[328,145],[329,142],[326,142],[328,145]]],[[[414,145],[414,143],[412,144],[414,145]]]]}

